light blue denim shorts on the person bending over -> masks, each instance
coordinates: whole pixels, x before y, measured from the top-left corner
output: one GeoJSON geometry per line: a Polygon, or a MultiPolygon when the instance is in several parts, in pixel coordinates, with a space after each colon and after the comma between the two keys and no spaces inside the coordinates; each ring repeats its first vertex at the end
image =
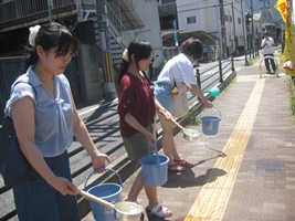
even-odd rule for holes
{"type": "Polygon", "coordinates": [[[175,106],[172,99],[172,86],[169,83],[158,82],[154,88],[156,99],[168,110],[175,115],[175,106]]]}

